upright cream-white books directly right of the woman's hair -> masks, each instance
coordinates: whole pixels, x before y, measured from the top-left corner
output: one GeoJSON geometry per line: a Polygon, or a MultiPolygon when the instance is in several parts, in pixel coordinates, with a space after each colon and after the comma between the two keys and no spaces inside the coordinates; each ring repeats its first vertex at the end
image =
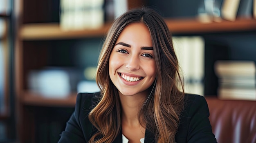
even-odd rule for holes
{"type": "Polygon", "coordinates": [[[175,36],[173,46],[177,55],[184,90],[204,95],[204,39],[201,36],[175,36]]]}

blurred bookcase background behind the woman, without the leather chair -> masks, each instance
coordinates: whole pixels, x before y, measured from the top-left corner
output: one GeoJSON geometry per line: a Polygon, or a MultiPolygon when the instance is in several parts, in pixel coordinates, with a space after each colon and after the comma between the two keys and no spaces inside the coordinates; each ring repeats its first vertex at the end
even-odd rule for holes
{"type": "Polygon", "coordinates": [[[256,100],[255,0],[0,0],[0,143],[56,143],[76,94],[99,91],[112,21],[141,6],[166,19],[186,92],[256,100]]]}

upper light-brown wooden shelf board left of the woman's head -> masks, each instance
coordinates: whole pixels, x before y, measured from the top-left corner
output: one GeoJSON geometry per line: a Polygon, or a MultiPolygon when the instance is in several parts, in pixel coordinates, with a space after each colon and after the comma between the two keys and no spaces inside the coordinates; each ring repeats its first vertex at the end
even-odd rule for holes
{"type": "Polygon", "coordinates": [[[22,40],[72,39],[79,37],[101,37],[106,34],[110,24],[99,29],[63,31],[58,23],[24,24],[20,30],[22,40]]]}

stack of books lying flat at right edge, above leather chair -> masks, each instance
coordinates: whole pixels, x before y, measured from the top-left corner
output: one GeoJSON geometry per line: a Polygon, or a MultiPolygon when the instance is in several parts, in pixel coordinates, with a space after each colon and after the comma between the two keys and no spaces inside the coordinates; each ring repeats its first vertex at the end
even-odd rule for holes
{"type": "Polygon", "coordinates": [[[256,101],[254,61],[216,61],[214,69],[219,79],[220,99],[256,101]]]}

